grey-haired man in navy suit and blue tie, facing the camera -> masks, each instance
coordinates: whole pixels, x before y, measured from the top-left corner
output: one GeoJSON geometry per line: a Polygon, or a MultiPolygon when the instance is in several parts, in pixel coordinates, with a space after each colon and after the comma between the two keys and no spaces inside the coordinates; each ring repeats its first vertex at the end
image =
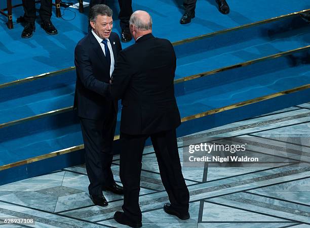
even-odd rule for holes
{"type": "Polygon", "coordinates": [[[119,36],[111,32],[112,10],[108,6],[92,7],[89,20],[92,31],[79,41],[74,52],[74,107],[81,120],[90,198],[96,205],[107,206],[102,190],[123,194],[111,171],[118,104],[109,94],[110,76],[122,45],[119,36]]]}

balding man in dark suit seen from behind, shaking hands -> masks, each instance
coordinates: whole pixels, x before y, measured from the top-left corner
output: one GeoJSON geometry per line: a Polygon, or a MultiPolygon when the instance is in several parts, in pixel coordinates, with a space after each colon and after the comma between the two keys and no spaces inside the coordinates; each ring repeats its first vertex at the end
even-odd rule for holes
{"type": "Polygon", "coordinates": [[[120,177],[124,186],[124,212],[114,219],[141,227],[139,207],[141,160],[150,136],[163,185],[171,204],[164,210],[188,219],[189,193],[182,175],[176,141],[181,123],[174,97],[176,56],[167,39],[154,37],[148,13],[136,11],[130,31],[136,43],[120,52],[112,75],[111,95],[122,99],[120,177]]]}

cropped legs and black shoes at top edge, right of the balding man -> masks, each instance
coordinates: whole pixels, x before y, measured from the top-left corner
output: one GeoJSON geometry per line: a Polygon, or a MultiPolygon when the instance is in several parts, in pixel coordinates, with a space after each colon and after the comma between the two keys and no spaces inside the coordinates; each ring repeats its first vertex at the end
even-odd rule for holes
{"type": "MultiPolygon", "coordinates": [[[[218,4],[218,10],[222,14],[229,14],[229,6],[226,0],[215,0],[218,4]]],[[[183,6],[185,8],[185,13],[181,17],[180,23],[187,24],[195,17],[195,8],[197,0],[183,0],[183,6]]]]}

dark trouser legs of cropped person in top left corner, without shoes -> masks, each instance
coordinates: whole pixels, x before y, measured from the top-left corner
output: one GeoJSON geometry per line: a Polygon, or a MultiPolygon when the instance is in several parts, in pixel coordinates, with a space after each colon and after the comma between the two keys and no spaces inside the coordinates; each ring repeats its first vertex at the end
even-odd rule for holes
{"type": "MultiPolygon", "coordinates": [[[[27,22],[34,22],[35,21],[35,0],[24,0],[23,1],[24,7],[24,19],[27,22]]],[[[52,0],[41,0],[41,7],[40,7],[40,17],[41,20],[49,20],[52,17],[52,0]]]]}

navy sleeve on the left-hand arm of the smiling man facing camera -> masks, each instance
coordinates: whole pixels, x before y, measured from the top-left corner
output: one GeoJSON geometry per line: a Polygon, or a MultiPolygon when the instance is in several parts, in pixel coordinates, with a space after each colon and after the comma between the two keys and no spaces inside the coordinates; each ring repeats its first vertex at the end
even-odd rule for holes
{"type": "Polygon", "coordinates": [[[76,75],[78,75],[85,88],[104,97],[109,96],[110,85],[94,77],[92,64],[82,45],[77,45],[75,48],[74,64],[76,67],[76,75]]]}

